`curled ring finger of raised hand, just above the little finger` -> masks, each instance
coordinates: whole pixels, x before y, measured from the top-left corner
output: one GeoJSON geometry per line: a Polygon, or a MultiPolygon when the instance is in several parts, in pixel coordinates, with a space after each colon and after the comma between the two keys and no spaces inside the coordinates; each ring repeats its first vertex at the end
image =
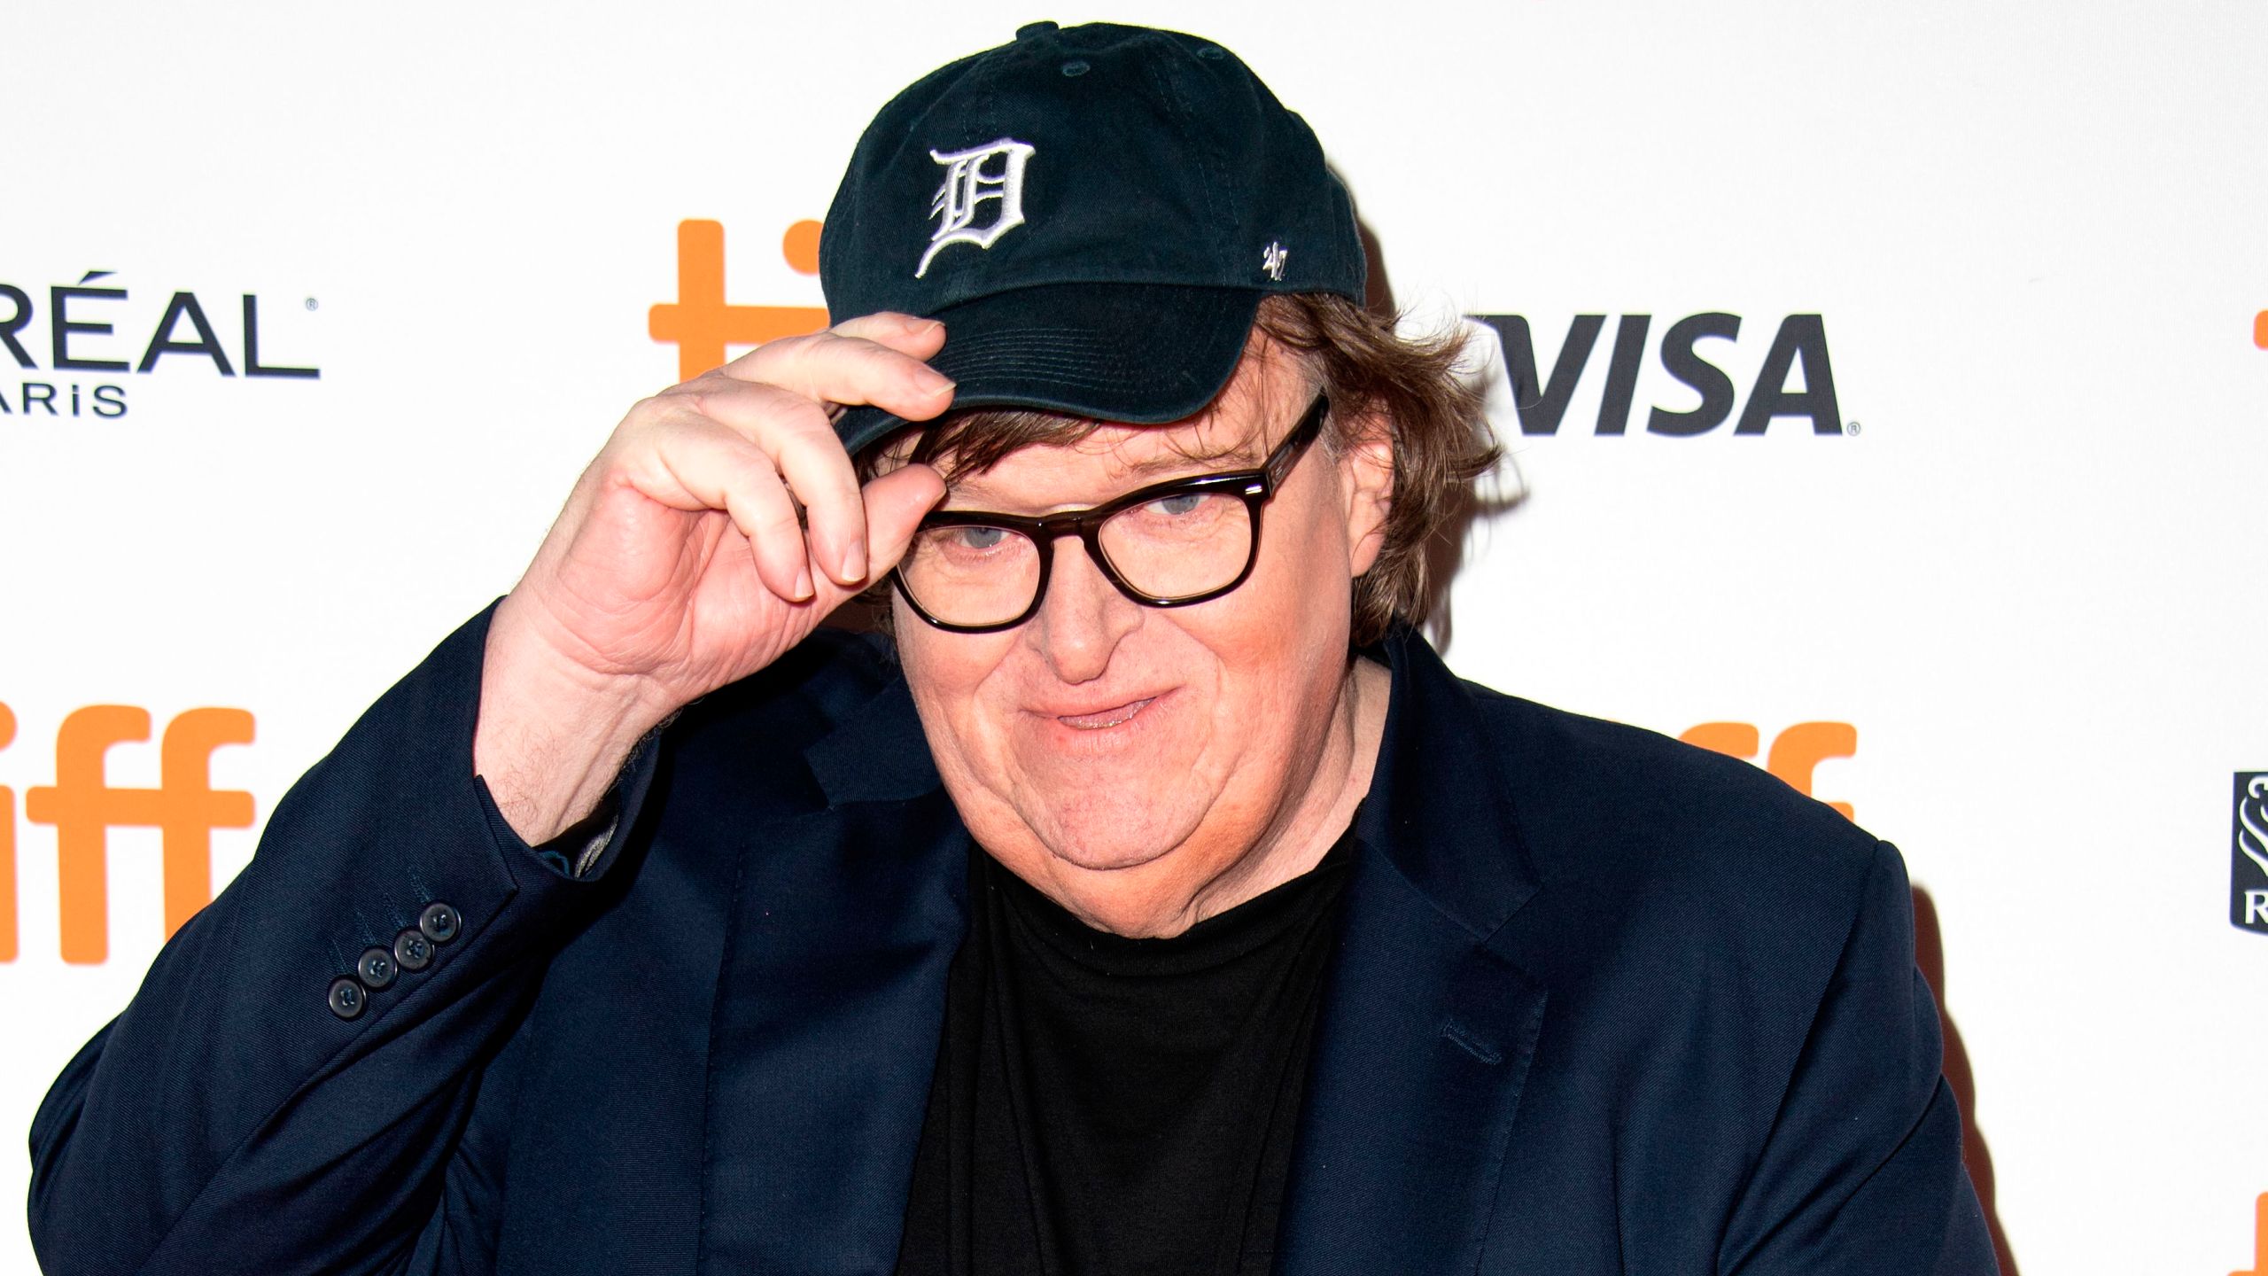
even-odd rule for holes
{"type": "Polygon", "coordinates": [[[717,377],[687,395],[703,418],[748,438],[787,479],[807,513],[812,561],[855,586],[866,579],[866,506],[835,422],[812,400],[755,381],[717,377]]]}

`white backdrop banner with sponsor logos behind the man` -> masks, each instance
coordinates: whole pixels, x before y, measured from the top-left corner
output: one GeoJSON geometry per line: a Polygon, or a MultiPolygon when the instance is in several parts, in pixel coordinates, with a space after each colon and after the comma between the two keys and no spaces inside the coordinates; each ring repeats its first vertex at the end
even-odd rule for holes
{"type": "Polygon", "coordinates": [[[2254,2],[9,5],[0,1131],[1036,18],[1234,48],[1467,331],[1452,665],[1898,842],[2007,1271],[2268,1271],[2254,2]]]}

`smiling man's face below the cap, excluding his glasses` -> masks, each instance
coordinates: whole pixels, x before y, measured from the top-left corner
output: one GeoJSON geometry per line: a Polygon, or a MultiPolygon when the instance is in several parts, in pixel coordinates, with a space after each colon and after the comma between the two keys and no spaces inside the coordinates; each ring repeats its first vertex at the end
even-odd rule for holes
{"type": "MultiPolygon", "coordinates": [[[[1055,513],[1254,468],[1313,393],[1254,343],[1207,415],[1025,447],[955,481],[946,509],[1055,513]]],[[[1016,629],[948,633],[896,599],[921,724],[975,840],[1091,924],[1186,926],[1311,799],[1343,711],[1347,581],[1377,554],[1388,486],[1383,445],[1318,443],[1261,515],[1252,577],[1193,606],[1127,599],[1077,538],[1043,549],[1048,593],[1016,629]]]]}

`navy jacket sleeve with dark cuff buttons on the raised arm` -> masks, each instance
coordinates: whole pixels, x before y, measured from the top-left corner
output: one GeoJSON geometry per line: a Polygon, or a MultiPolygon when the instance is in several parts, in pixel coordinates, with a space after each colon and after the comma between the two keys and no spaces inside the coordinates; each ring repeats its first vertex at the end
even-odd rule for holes
{"type": "MultiPolygon", "coordinates": [[[[615,858],[560,872],[472,774],[485,638],[488,613],[293,786],[57,1078],[32,1122],[50,1276],[401,1271],[413,1246],[447,1271],[485,1249],[447,1235],[490,1217],[497,1165],[465,1133],[483,1072],[615,858]],[[358,979],[374,949],[408,960],[358,979]]],[[[617,786],[617,842],[653,752],[617,786]]]]}

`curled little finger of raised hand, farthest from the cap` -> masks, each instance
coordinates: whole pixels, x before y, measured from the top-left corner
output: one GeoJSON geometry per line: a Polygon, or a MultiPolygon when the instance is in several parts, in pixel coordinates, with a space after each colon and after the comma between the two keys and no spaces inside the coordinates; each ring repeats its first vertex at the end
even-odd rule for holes
{"type": "Polygon", "coordinates": [[[651,468],[631,481],[674,509],[721,509],[748,538],[764,588],[789,599],[812,597],[810,552],[787,486],[762,447],[714,422],[685,422],[653,440],[651,468]]]}

